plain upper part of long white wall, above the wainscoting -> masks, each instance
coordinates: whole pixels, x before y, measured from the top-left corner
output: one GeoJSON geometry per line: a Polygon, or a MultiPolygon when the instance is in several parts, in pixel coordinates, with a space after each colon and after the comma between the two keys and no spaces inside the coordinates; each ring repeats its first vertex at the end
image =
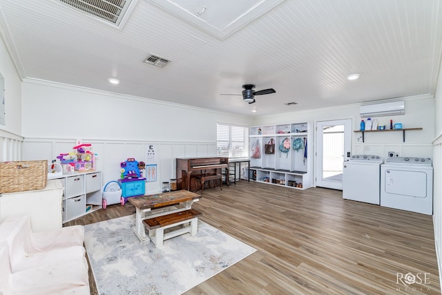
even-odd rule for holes
{"type": "Polygon", "coordinates": [[[24,137],[216,142],[216,122],[250,118],[25,79],[24,137]]]}

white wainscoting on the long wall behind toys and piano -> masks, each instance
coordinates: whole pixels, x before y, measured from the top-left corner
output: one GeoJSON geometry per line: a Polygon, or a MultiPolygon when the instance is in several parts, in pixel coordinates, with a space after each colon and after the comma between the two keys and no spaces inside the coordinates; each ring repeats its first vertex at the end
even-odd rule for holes
{"type": "MultiPolygon", "coordinates": [[[[215,157],[216,142],[155,142],[155,141],[125,141],[125,140],[87,140],[83,143],[92,144],[92,151],[96,153],[96,170],[102,171],[103,186],[119,179],[120,162],[128,158],[137,161],[146,160],[149,145],[155,147],[157,164],[157,181],[146,182],[146,193],[158,193],[162,189],[162,182],[169,182],[175,178],[176,158],[215,157]]],[[[26,138],[23,142],[23,160],[51,160],[60,153],[73,151],[76,139],[26,138]]]]}

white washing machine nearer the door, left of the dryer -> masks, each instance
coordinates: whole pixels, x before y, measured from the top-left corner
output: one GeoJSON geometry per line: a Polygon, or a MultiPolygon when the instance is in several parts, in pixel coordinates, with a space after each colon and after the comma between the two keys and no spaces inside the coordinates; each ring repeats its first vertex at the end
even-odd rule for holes
{"type": "Polygon", "coordinates": [[[343,164],[343,198],[379,204],[381,164],[378,155],[352,155],[343,164]]]}

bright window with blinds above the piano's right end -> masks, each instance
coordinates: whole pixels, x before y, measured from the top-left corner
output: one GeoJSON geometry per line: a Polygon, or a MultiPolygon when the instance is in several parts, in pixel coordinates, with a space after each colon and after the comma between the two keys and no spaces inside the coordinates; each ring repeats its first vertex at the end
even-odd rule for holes
{"type": "Polygon", "coordinates": [[[216,148],[219,157],[249,158],[249,128],[217,124],[216,148]]]}

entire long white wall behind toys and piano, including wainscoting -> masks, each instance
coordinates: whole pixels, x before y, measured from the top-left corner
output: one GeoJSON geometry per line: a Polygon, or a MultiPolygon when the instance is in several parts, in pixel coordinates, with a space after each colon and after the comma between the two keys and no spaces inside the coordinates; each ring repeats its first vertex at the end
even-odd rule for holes
{"type": "Polygon", "coordinates": [[[151,99],[25,79],[23,160],[52,160],[72,151],[77,139],[93,144],[103,184],[119,178],[127,158],[146,162],[148,145],[157,149],[156,192],[175,178],[175,158],[216,155],[216,123],[251,125],[251,117],[151,99]]]}

